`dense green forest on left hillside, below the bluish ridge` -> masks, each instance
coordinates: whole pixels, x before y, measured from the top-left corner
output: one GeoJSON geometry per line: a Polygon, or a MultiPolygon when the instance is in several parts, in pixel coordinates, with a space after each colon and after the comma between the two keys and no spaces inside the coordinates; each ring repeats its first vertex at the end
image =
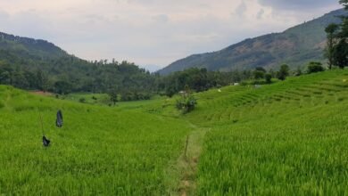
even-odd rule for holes
{"type": "Polygon", "coordinates": [[[120,94],[145,94],[151,92],[154,86],[154,78],[149,72],[127,61],[104,64],[62,57],[52,64],[44,62],[36,66],[37,61],[21,62],[21,57],[17,56],[13,59],[4,61],[3,58],[0,61],[1,84],[57,94],[106,93],[114,88],[120,94]]]}

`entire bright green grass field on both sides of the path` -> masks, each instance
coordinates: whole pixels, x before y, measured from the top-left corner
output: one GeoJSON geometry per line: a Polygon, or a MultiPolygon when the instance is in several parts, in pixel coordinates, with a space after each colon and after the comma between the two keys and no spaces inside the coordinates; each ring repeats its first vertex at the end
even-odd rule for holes
{"type": "Polygon", "coordinates": [[[195,96],[183,116],[175,98],[108,107],[0,86],[0,195],[348,194],[347,70],[195,96]]]}

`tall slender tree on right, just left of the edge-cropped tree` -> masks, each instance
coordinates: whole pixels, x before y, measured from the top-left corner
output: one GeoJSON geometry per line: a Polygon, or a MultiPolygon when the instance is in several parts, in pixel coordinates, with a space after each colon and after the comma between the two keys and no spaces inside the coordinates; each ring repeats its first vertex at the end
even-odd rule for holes
{"type": "Polygon", "coordinates": [[[327,57],[327,64],[328,69],[332,69],[332,66],[334,65],[334,50],[336,45],[336,31],[338,29],[337,24],[329,24],[327,28],[325,29],[325,32],[327,33],[327,47],[325,49],[325,56],[327,57]]]}

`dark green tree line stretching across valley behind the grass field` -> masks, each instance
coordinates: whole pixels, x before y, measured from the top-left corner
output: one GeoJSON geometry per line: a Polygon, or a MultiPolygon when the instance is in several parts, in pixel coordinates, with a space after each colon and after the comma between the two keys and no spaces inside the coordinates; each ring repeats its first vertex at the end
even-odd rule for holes
{"type": "MultiPolygon", "coordinates": [[[[3,53],[4,54],[4,53],[3,53]]],[[[15,60],[15,57],[13,57],[15,60]]],[[[51,65],[21,66],[19,61],[0,61],[0,84],[55,94],[78,92],[109,94],[112,102],[150,99],[153,94],[172,96],[187,87],[195,92],[213,87],[228,86],[245,80],[254,84],[269,84],[272,78],[286,79],[299,76],[302,69],[290,70],[283,64],[274,71],[258,67],[253,70],[229,72],[191,68],[160,76],[140,69],[128,61],[83,61],[59,58],[51,65]]],[[[311,62],[308,73],[324,70],[321,63],[311,62]]]]}

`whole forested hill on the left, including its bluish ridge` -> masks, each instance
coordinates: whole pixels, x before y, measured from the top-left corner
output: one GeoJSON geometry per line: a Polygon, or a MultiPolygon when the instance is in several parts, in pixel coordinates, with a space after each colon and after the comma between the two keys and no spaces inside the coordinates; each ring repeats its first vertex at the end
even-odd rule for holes
{"type": "Polygon", "coordinates": [[[85,61],[45,40],[0,33],[3,85],[58,94],[114,90],[130,97],[145,96],[153,90],[153,82],[149,72],[128,61],[85,61]]]}

